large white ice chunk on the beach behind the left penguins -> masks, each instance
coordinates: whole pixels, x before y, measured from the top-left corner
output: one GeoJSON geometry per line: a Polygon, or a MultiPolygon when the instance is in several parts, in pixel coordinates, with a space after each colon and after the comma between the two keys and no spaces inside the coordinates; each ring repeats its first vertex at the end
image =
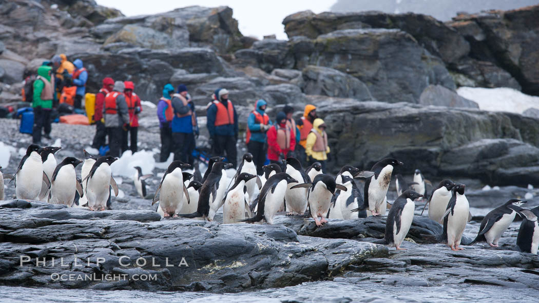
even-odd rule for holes
{"type": "Polygon", "coordinates": [[[110,165],[110,168],[115,176],[133,178],[136,172],[135,166],[142,168],[142,174],[151,174],[155,167],[154,153],[142,150],[133,154],[128,150],[122,154],[120,159],[110,165]]]}

